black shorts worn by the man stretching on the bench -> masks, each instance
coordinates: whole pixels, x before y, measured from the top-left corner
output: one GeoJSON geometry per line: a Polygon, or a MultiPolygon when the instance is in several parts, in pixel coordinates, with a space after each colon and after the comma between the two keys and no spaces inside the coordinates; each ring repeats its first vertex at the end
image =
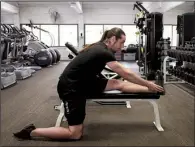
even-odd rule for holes
{"type": "Polygon", "coordinates": [[[83,124],[86,115],[86,99],[91,95],[101,94],[107,85],[107,79],[97,78],[90,80],[89,83],[80,86],[80,88],[65,88],[61,81],[58,83],[58,94],[64,103],[65,117],[70,126],[83,124]],[[87,85],[87,86],[86,86],[87,85]]]}

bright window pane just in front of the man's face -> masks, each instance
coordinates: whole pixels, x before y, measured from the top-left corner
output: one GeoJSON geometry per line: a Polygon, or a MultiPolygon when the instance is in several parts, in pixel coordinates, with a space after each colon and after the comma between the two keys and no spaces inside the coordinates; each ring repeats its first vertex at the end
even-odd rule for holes
{"type": "Polygon", "coordinates": [[[139,36],[136,35],[138,31],[135,25],[123,25],[123,31],[126,34],[125,46],[129,44],[138,44],[139,36]]]}

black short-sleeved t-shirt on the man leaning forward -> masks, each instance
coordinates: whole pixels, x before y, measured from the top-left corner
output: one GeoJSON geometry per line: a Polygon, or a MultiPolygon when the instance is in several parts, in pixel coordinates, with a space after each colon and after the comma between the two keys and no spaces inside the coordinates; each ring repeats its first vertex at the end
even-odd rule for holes
{"type": "Polygon", "coordinates": [[[60,81],[65,89],[89,85],[101,74],[107,62],[116,61],[114,53],[104,43],[97,43],[79,53],[64,69],[60,81]]]}

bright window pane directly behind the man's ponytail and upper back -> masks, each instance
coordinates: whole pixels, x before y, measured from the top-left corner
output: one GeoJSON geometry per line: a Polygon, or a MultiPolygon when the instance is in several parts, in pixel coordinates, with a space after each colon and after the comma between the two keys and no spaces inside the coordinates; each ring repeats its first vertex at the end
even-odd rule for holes
{"type": "Polygon", "coordinates": [[[85,25],[85,44],[91,44],[101,39],[103,25],[85,25]]]}

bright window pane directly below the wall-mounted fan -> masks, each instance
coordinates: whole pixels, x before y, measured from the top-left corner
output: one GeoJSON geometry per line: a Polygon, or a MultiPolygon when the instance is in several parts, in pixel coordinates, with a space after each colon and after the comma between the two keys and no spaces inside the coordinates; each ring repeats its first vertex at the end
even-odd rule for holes
{"type": "Polygon", "coordinates": [[[41,25],[41,41],[48,46],[58,46],[58,25],[41,25]]]}

